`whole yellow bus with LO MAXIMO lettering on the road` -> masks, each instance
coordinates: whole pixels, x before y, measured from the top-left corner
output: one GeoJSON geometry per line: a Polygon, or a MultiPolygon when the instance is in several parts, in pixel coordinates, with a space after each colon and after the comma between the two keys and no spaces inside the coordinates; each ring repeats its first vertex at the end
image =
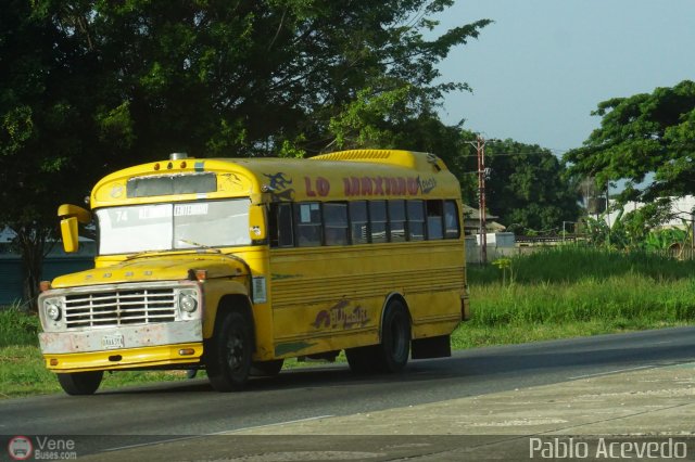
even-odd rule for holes
{"type": "Polygon", "coordinates": [[[63,245],[98,233],[94,269],[45,283],[40,346],[71,395],[104,371],[204,369],[219,392],[286,358],[396,372],[451,355],[468,316],[460,189],[433,154],[169,159],[116,171],[63,245]]]}

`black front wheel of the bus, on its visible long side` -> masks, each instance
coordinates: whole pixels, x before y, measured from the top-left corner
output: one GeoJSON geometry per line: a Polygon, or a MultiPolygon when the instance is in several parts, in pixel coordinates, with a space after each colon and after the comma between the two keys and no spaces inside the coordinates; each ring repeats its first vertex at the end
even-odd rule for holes
{"type": "Polygon", "coordinates": [[[217,392],[240,390],[249,381],[253,342],[251,323],[240,312],[225,315],[207,344],[207,378],[217,392]]]}

